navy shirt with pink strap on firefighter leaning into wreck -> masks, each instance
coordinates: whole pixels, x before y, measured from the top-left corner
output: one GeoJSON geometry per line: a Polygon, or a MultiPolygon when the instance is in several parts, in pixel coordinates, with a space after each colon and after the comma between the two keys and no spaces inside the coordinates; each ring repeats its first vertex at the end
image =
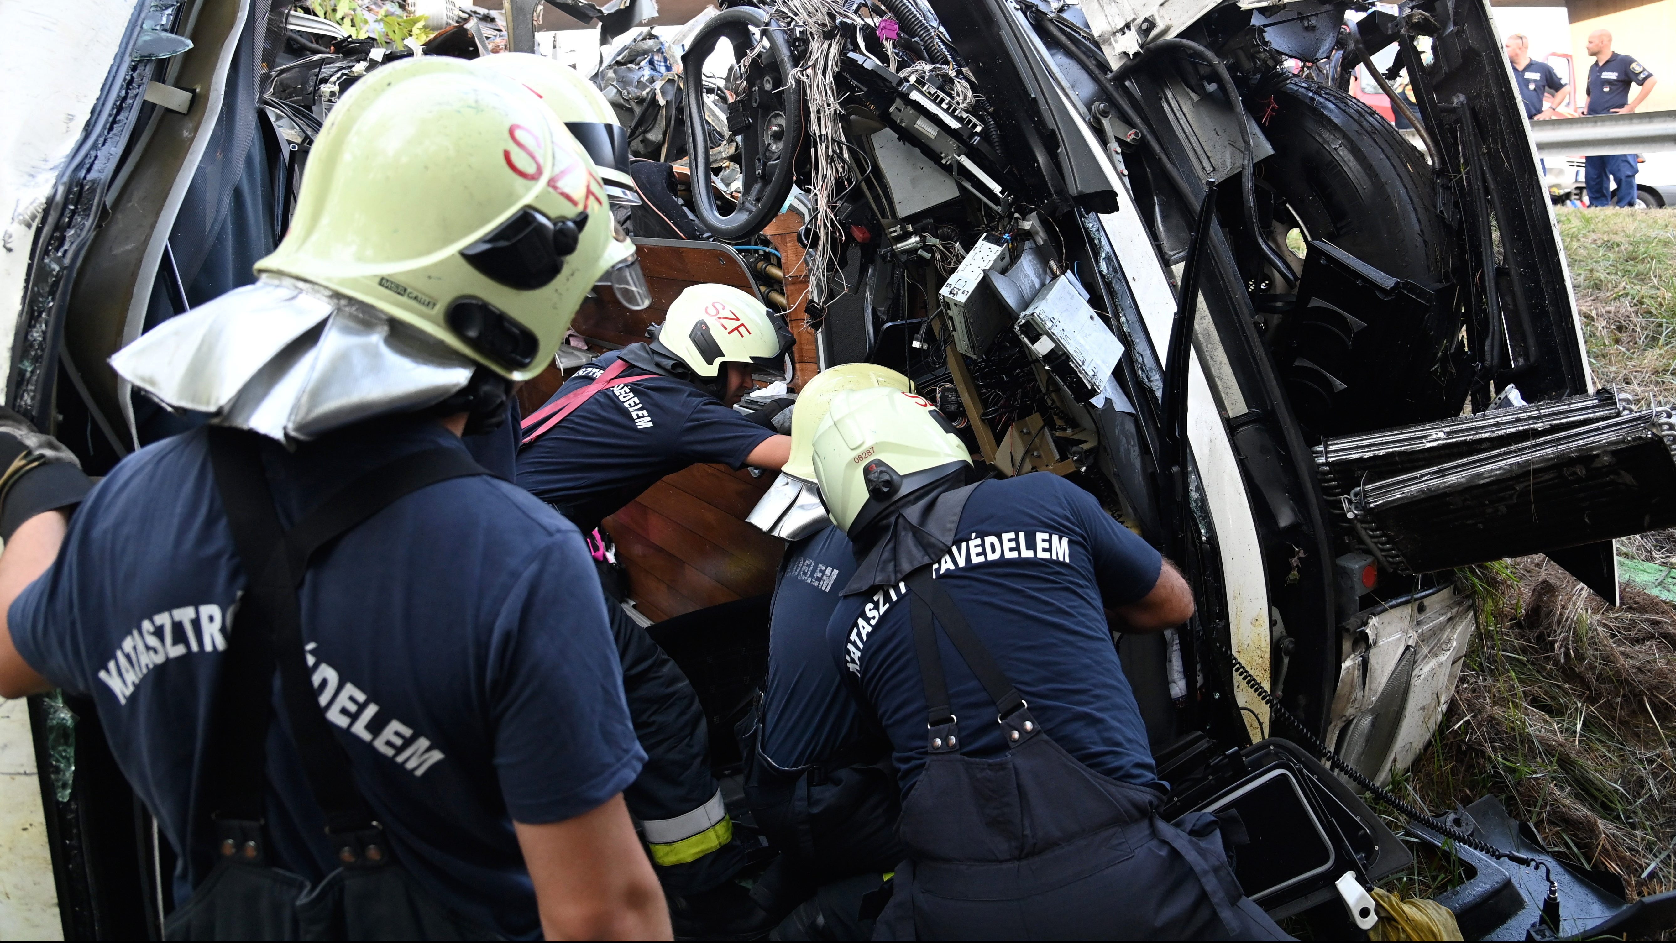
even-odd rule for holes
{"type": "MultiPolygon", "coordinates": [[[[592,384],[617,353],[577,370],[548,402],[592,384]]],[[[625,375],[644,374],[628,367],[625,375]]],[[[744,467],[774,435],[685,380],[652,377],[593,394],[563,422],[518,451],[518,486],[565,508],[583,529],[697,462],[744,467]]]]}

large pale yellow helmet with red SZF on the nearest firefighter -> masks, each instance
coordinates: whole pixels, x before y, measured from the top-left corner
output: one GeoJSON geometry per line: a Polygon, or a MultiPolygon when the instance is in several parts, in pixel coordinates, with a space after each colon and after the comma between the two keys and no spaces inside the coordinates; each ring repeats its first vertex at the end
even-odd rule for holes
{"type": "Polygon", "coordinates": [[[256,271],[372,305],[511,380],[546,367],[595,281],[649,300],[587,149],[516,82],[429,55],[344,95],[256,271]]]}

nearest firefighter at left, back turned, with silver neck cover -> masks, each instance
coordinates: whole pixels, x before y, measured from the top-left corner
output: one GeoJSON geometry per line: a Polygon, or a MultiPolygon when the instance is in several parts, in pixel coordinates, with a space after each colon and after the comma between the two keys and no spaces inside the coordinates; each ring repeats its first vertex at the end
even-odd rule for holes
{"type": "Polygon", "coordinates": [[[0,434],[7,513],[45,509],[0,554],[0,695],[96,702],[178,854],[171,940],[667,940],[592,561],[459,441],[634,246],[546,109],[454,59],[362,79],[313,156],[258,281],[112,358],[208,427],[70,523],[28,487],[62,449],[0,434]]]}

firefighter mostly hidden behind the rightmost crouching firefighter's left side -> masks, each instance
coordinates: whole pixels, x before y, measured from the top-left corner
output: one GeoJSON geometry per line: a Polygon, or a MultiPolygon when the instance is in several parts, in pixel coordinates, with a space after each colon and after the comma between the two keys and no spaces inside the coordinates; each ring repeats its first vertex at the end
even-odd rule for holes
{"type": "MultiPolygon", "coordinates": [[[[786,476],[815,487],[815,429],[835,395],[868,389],[913,392],[913,384],[888,367],[841,363],[799,390],[786,476]]],[[[753,894],[776,916],[798,908],[781,923],[781,940],[813,938],[815,926],[866,938],[863,899],[902,861],[890,740],[828,657],[826,621],[856,559],[843,529],[823,523],[786,546],[769,610],[768,683],[741,737],[746,802],[779,853],[753,894]]]]}

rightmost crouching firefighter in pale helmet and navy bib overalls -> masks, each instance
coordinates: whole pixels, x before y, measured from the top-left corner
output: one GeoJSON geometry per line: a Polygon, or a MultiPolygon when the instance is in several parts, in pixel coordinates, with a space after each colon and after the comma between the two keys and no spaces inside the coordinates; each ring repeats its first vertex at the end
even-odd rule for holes
{"type": "Polygon", "coordinates": [[[815,474],[860,564],[830,658],[890,739],[907,861],[875,940],[1285,938],[1163,784],[1111,631],[1193,611],[1155,549],[1054,474],[967,484],[923,399],[838,394],[815,474]]]}

